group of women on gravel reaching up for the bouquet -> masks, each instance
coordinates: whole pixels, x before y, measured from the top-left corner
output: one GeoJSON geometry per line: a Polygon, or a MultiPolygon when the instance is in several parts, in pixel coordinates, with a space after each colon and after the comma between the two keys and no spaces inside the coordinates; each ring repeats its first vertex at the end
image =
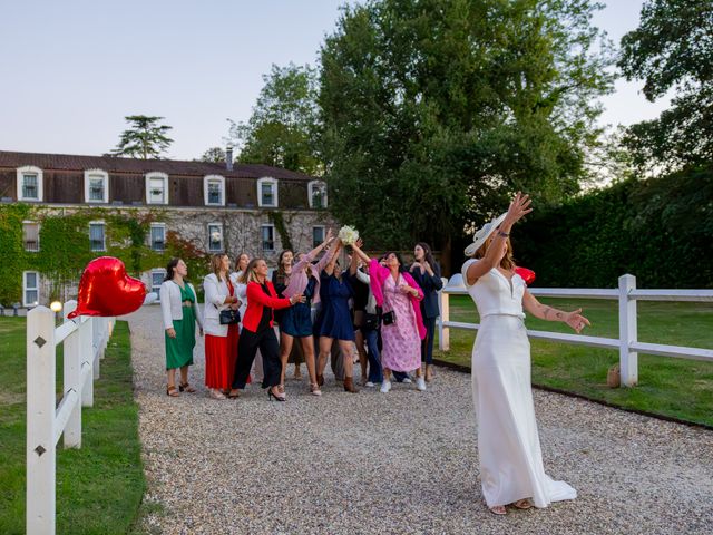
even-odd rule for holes
{"type": "Polygon", "coordinates": [[[215,399],[237,398],[252,376],[262,376],[268,398],[285,401],[291,356],[295,377],[301,362],[306,364],[313,396],[322,395],[329,360],[348,392],[359,391],[355,362],[367,387],[381,383],[385,393],[392,388],[392,373],[400,382],[412,382],[409,374],[414,372],[417,388],[426,390],[432,378],[437,292],[442,285],[439,265],[426,243],[414,247],[410,265],[395,252],[371,259],[361,246],[361,241],[351,244],[343,269],[344,244],[330,230],[309,253],[283,251],[271,279],[264,259],[241,254],[231,272],[226,254],[213,255],[203,281],[203,313],[186,281],[185,262],[173,259],[160,286],[166,393],[196,391],[187,376],[196,323],[205,333],[205,385],[215,399]]]}

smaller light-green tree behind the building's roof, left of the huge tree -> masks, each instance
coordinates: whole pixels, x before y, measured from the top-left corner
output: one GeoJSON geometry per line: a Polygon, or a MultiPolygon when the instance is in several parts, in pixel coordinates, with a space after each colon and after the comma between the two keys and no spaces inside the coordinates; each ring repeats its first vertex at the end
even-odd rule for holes
{"type": "Polygon", "coordinates": [[[314,144],[319,115],[315,69],[273,65],[263,80],[250,120],[232,121],[231,136],[242,146],[238,160],[320,174],[314,144]]]}

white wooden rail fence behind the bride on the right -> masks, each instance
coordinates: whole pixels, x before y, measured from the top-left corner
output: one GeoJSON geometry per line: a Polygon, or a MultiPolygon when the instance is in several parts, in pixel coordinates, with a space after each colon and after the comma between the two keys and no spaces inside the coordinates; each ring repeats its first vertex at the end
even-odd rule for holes
{"type": "MultiPolygon", "coordinates": [[[[587,337],[584,334],[565,334],[530,329],[528,329],[527,334],[539,340],[618,350],[622,386],[633,387],[638,382],[639,352],[713,362],[713,350],[711,349],[639,342],[636,313],[637,301],[713,302],[713,290],[639,290],[636,288],[636,278],[634,275],[622,275],[619,276],[618,289],[530,288],[529,291],[533,295],[543,298],[585,298],[618,301],[619,338],[587,337]]],[[[439,347],[441,350],[448,351],[450,329],[477,330],[480,325],[450,321],[449,296],[468,294],[460,274],[451,276],[439,293],[441,311],[438,320],[439,347]]]]}

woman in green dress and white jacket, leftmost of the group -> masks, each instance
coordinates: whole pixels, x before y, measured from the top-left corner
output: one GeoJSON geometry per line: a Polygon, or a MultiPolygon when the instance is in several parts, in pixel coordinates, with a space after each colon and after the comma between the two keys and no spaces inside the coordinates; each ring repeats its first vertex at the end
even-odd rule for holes
{"type": "Polygon", "coordinates": [[[185,280],[186,275],[186,263],[180,259],[172,259],[166,266],[166,278],[159,290],[166,339],[166,393],[170,397],[179,396],[179,390],[196,391],[188,383],[188,367],[193,364],[193,348],[196,346],[196,321],[203,335],[203,318],[196,290],[185,280]],[[179,390],[176,388],[177,368],[180,369],[179,390]]]}

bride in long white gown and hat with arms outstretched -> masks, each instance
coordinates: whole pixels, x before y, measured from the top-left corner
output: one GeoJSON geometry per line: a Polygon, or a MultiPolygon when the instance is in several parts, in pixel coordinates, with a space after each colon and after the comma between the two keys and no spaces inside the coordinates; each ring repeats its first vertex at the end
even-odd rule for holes
{"type": "Polygon", "coordinates": [[[577,492],[545,474],[530,386],[530,344],[522,308],[536,318],[563,321],[577,333],[589,325],[582,309],[564,312],[541,304],[515,273],[509,233],[531,212],[518,193],[507,213],[482,226],[466,249],[462,275],[480,314],[472,350],[472,395],[478,419],[482,494],[490,510],[547,507],[577,492]]]}

